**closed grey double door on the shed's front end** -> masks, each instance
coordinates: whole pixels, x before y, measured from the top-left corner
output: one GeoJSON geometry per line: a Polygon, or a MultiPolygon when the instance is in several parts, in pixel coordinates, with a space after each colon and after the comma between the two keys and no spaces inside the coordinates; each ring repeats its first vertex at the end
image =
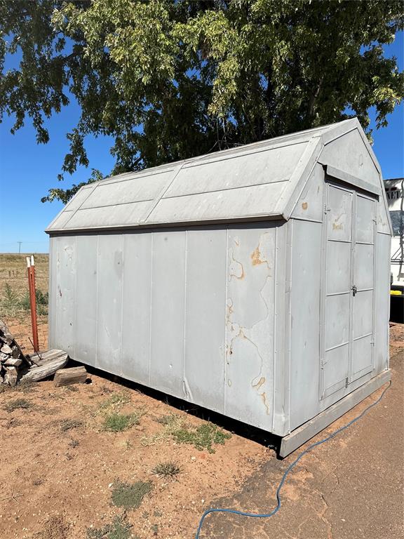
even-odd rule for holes
{"type": "Polygon", "coordinates": [[[321,397],[372,371],[375,200],[328,183],[321,397]]]}

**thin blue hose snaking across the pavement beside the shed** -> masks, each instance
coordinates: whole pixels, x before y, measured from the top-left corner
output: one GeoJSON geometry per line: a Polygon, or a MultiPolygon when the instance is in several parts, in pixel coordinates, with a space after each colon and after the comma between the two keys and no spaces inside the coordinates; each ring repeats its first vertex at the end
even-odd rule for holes
{"type": "Polygon", "coordinates": [[[344,425],[343,427],[340,427],[339,429],[337,429],[334,432],[332,432],[331,434],[329,434],[328,437],[326,437],[326,438],[324,438],[322,440],[314,442],[314,444],[311,444],[307,449],[302,451],[302,453],[300,453],[299,456],[295,460],[293,460],[293,462],[286,468],[286,470],[285,470],[285,472],[284,472],[284,474],[282,476],[281,482],[279,483],[278,488],[276,489],[276,500],[277,500],[278,503],[276,504],[276,507],[270,513],[248,513],[248,512],[244,512],[244,511],[237,511],[235,509],[208,509],[203,513],[203,515],[201,517],[201,520],[199,521],[199,526],[198,526],[198,529],[196,531],[195,539],[199,539],[199,535],[201,533],[203,521],[206,519],[206,517],[210,513],[233,513],[233,514],[241,515],[241,517],[253,517],[255,519],[269,519],[269,517],[274,517],[274,514],[276,514],[281,509],[281,488],[285,484],[285,481],[286,481],[286,478],[288,477],[289,472],[291,472],[293,470],[293,468],[297,465],[299,460],[304,455],[309,453],[309,451],[311,451],[311,449],[315,448],[316,446],[320,446],[321,444],[325,444],[326,441],[329,441],[330,439],[334,438],[337,434],[339,434],[339,432],[342,432],[343,430],[347,429],[351,425],[354,425],[354,423],[356,423],[356,421],[363,418],[363,415],[365,415],[365,413],[367,413],[370,410],[370,408],[373,408],[373,406],[376,406],[376,404],[379,404],[379,402],[384,397],[384,393],[386,393],[386,391],[389,389],[390,386],[391,386],[391,380],[389,382],[389,385],[384,388],[384,390],[383,390],[382,394],[380,395],[380,397],[375,402],[370,404],[368,406],[368,408],[365,408],[365,410],[363,410],[363,412],[360,413],[356,418],[349,421],[349,423],[346,423],[346,425],[344,425]]]}

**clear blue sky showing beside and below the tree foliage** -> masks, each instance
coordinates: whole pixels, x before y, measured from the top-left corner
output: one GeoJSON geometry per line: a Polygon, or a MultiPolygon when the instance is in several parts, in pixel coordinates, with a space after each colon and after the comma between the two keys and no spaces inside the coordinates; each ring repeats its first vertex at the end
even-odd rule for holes
{"type": "MultiPolygon", "coordinates": [[[[386,55],[398,58],[400,70],[404,69],[404,34],[400,32],[396,41],[386,49],[386,55]]],[[[15,60],[8,61],[8,67],[15,60]]],[[[374,126],[374,114],[372,114],[374,126]]],[[[72,102],[69,107],[51,118],[46,126],[50,133],[47,145],[37,145],[32,124],[26,125],[15,135],[10,129],[13,119],[5,118],[0,124],[0,253],[18,253],[18,241],[22,241],[22,253],[48,252],[48,236],[43,229],[62,208],[57,201],[43,204],[50,187],[57,187],[56,175],[60,173],[67,152],[66,133],[79,118],[79,107],[72,102]]],[[[373,149],[382,166],[384,178],[404,176],[404,105],[396,107],[388,117],[389,126],[373,132],[373,149]]],[[[90,167],[107,174],[114,166],[109,154],[112,140],[107,137],[86,138],[86,149],[90,167]]],[[[79,168],[74,175],[66,175],[60,184],[86,181],[90,168],[79,168]]]]}

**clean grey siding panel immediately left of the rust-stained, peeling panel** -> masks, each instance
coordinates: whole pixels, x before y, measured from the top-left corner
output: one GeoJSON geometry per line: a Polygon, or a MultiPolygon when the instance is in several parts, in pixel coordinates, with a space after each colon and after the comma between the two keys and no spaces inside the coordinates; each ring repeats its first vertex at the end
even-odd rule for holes
{"type": "Polygon", "coordinates": [[[187,232],[184,394],[223,412],[226,230],[187,232]]]}

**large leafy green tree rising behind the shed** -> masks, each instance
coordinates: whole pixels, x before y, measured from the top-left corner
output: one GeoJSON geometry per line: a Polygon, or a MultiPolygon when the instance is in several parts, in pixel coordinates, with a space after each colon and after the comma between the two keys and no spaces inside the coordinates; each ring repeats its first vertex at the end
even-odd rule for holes
{"type": "Polygon", "coordinates": [[[119,173],[354,115],[368,128],[370,107],[386,126],[404,74],[382,45],[403,22],[401,1],[384,0],[0,0],[2,72],[22,54],[1,76],[0,114],[12,132],[30,117],[47,142],[46,118],[73,96],[62,173],[89,165],[89,133],[112,135],[119,173]]]}

